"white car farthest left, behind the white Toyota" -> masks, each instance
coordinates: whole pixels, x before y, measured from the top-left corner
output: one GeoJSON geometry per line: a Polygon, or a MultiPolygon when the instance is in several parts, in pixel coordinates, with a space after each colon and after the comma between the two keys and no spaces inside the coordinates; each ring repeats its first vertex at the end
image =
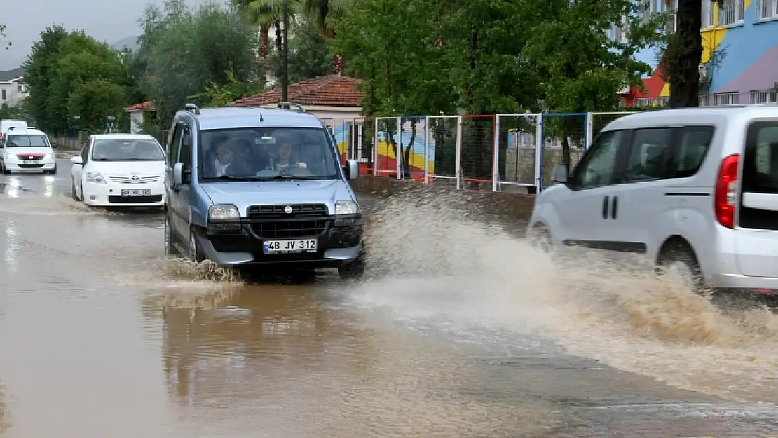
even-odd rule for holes
{"type": "Polygon", "coordinates": [[[57,156],[43,131],[9,127],[0,146],[3,175],[20,170],[41,170],[49,175],[57,173],[57,156]]]}

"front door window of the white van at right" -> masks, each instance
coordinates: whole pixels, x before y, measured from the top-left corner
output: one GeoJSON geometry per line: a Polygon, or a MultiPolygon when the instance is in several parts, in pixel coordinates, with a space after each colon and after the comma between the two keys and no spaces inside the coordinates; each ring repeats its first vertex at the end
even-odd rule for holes
{"type": "Polygon", "coordinates": [[[612,184],[616,155],[624,136],[623,131],[603,132],[573,172],[575,189],[601,187],[612,184]]]}

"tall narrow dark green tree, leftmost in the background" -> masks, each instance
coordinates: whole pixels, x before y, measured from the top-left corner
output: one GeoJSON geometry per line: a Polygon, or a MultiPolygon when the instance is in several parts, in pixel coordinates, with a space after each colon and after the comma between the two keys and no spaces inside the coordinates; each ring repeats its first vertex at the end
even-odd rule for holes
{"type": "Polygon", "coordinates": [[[44,130],[54,127],[54,121],[50,120],[47,111],[48,97],[59,46],[67,37],[65,27],[58,24],[47,27],[40,33],[40,40],[33,43],[30,56],[23,64],[24,80],[30,89],[25,104],[38,127],[44,130]]]}

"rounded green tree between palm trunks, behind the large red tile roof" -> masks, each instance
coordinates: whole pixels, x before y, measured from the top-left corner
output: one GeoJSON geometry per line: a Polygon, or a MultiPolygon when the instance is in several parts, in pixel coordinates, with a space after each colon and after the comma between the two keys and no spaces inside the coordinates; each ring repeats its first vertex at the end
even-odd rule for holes
{"type": "MultiPolygon", "coordinates": [[[[310,19],[296,17],[289,26],[294,33],[289,36],[289,82],[300,82],[332,72],[332,54],[327,39],[319,33],[310,19]]],[[[269,59],[269,70],[280,78],[283,73],[282,52],[275,50],[269,59]]]]}

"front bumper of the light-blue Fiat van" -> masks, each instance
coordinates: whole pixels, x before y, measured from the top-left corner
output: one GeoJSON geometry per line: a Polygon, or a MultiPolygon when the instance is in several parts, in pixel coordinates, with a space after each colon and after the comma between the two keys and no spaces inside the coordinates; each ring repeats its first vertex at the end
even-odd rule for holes
{"type": "MultiPolygon", "coordinates": [[[[261,226],[279,221],[240,219],[209,223],[206,228],[197,228],[197,237],[205,258],[218,265],[237,267],[240,265],[276,265],[294,268],[338,268],[363,258],[363,218],[328,216],[317,218],[323,223],[323,231],[303,237],[268,237],[258,234],[261,226]],[[230,228],[231,230],[225,230],[230,228]],[[265,240],[316,239],[317,251],[293,254],[265,254],[265,240]]],[[[292,222],[292,221],[289,221],[292,222]]]]}

